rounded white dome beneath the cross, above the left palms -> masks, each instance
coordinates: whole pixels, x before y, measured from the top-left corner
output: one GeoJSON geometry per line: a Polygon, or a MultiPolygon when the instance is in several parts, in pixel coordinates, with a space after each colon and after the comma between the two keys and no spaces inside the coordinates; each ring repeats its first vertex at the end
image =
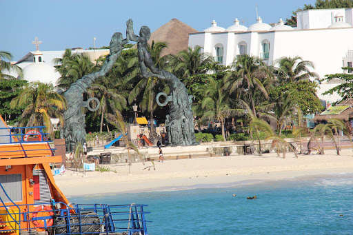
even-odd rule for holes
{"type": "Polygon", "coordinates": [[[28,82],[40,81],[41,83],[52,83],[57,85],[57,79],[61,77],[60,73],[48,63],[31,63],[22,70],[23,78],[28,82]]]}

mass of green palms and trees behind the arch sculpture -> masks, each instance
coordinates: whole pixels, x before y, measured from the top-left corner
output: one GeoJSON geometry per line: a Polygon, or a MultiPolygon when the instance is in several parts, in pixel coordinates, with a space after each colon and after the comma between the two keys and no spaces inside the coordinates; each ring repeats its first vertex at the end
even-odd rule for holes
{"type": "MultiPolygon", "coordinates": [[[[167,47],[166,43],[154,41],[148,46],[154,66],[172,72],[185,84],[188,92],[194,96],[192,108],[199,125],[220,123],[208,133],[197,133],[197,141],[227,139],[256,140],[261,143],[271,139],[274,145],[284,149],[283,146],[287,146],[284,141],[286,137],[301,139],[302,136],[321,134],[319,130],[312,134],[305,129],[303,121],[298,121],[303,119],[299,118],[300,115],[320,112],[323,108],[316,96],[316,83],[308,80],[317,78],[317,74],[312,72],[312,62],[301,57],[282,57],[274,61],[273,66],[268,66],[259,57],[244,54],[237,57],[231,66],[223,66],[202,53],[199,46],[174,56],[162,56],[167,47]],[[293,127],[293,133],[285,130],[286,127],[293,127]],[[234,134],[234,130],[245,133],[234,134]]],[[[139,105],[139,116],[149,116],[151,123],[156,114],[160,123],[165,120],[168,106],[159,107],[155,97],[158,92],[170,94],[168,83],[154,77],[144,79],[139,68],[137,49],[131,45],[127,45],[127,48],[130,49],[123,50],[110,72],[94,81],[90,90],[83,94],[85,100],[97,97],[100,101],[99,110],[87,112],[85,117],[86,132],[92,132],[87,135],[88,139],[103,134],[105,130],[125,132],[125,122],[134,116],[134,103],[139,105]]],[[[8,54],[0,56],[8,57],[8,54]]],[[[59,87],[65,90],[85,74],[100,70],[105,58],[101,57],[92,63],[81,54],[65,50],[62,58],[54,59],[57,71],[61,74],[59,87]]],[[[352,81],[351,76],[332,74],[327,75],[326,79],[352,81]]],[[[61,110],[65,108],[65,100],[48,84],[30,83],[22,88],[25,83],[0,79],[0,111],[8,114],[12,123],[19,121],[18,125],[46,125],[50,129],[50,117],[62,120],[61,110]],[[10,94],[10,91],[13,93],[10,94]],[[8,105],[10,101],[11,109],[8,105]]],[[[350,83],[344,84],[345,88],[350,88],[350,83]]],[[[342,92],[348,93],[350,90],[342,92]]],[[[135,148],[128,143],[129,153],[135,148]]]]}

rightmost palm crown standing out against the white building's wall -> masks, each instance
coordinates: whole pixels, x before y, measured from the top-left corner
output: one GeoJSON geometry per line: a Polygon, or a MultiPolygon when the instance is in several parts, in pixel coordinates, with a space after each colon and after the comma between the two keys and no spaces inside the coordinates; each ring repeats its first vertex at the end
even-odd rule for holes
{"type": "Polygon", "coordinates": [[[310,77],[317,79],[319,74],[311,72],[315,66],[312,61],[303,61],[301,57],[281,57],[274,61],[274,72],[280,81],[302,81],[310,77]]]}

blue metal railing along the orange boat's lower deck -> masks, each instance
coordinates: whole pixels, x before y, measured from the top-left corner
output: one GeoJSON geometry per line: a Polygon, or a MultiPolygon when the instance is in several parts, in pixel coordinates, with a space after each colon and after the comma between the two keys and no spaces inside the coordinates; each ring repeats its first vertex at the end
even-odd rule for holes
{"type": "MultiPolygon", "coordinates": [[[[12,221],[17,223],[17,225],[21,225],[23,222],[26,223],[26,228],[19,227],[15,229],[19,233],[27,230],[31,232],[34,231],[33,229],[45,229],[51,234],[62,235],[108,235],[117,233],[148,235],[146,223],[150,221],[145,220],[145,214],[150,212],[144,212],[143,207],[145,206],[147,205],[74,204],[70,207],[65,203],[58,202],[34,203],[17,205],[17,207],[26,207],[24,212],[19,212],[18,220],[8,210],[6,214],[3,213],[0,216],[6,217],[10,215],[12,221]],[[48,210],[49,207],[45,208],[42,205],[50,205],[50,210],[48,210]],[[33,207],[35,209],[30,210],[33,207]],[[61,209],[63,207],[65,208],[61,209]]],[[[5,205],[0,206],[0,210],[3,207],[5,205]]],[[[12,221],[5,221],[5,223],[12,221]]],[[[13,230],[0,228],[0,232],[13,230]]]]}

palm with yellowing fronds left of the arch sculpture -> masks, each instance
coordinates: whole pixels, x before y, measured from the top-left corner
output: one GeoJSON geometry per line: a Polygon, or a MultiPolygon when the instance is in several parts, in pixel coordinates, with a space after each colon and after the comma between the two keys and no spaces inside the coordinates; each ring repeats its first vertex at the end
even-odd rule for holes
{"type": "Polygon", "coordinates": [[[28,83],[19,96],[12,99],[11,108],[25,105],[19,126],[45,125],[46,132],[53,134],[50,118],[59,118],[63,126],[62,111],[66,108],[66,100],[54,91],[51,83],[28,83]]]}

